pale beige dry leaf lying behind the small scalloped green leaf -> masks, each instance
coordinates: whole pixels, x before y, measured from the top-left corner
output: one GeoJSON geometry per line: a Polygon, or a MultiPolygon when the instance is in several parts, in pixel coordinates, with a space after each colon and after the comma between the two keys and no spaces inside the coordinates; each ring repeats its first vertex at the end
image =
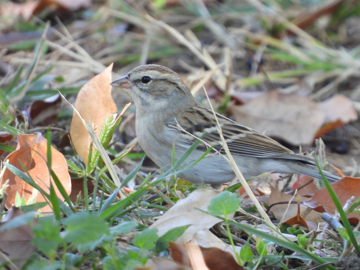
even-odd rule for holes
{"type": "MultiPolygon", "coordinates": [[[[158,228],[158,235],[162,236],[168,230],[184,225],[191,225],[176,242],[186,243],[193,238],[193,235],[204,228],[211,228],[214,224],[221,222],[221,219],[213,217],[195,208],[207,211],[210,200],[216,197],[220,191],[215,189],[198,189],[192,192],[185,199],[180,199],[163,216],[156,220],[150,228],[158,228]]],[[[232,217],[230,216],[229,219],[232,217]]]]}

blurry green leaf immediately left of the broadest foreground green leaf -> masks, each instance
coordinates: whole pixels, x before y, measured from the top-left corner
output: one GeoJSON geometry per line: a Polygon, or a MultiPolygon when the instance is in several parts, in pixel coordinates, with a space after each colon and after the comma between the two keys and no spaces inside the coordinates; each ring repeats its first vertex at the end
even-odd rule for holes
{"type": "Polygon", "coordinates": [[[62,243],[60,222],[53,216],[41,217],[37,221],[39,224],[33,226],[35,237],[32,239],[32,243],[45,255],[55,253],[62,243]]]}

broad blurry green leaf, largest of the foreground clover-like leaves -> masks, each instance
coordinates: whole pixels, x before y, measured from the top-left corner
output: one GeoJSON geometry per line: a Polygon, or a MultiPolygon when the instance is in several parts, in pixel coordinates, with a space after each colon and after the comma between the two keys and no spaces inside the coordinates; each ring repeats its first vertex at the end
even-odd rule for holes
{"type": "Polygon", "coordinates": [[[87,212],[72,214],[64,224],[66,229],[62,238],[73,244],[95,242],[110,233],[108,224],[101,217],[87,212]]]}

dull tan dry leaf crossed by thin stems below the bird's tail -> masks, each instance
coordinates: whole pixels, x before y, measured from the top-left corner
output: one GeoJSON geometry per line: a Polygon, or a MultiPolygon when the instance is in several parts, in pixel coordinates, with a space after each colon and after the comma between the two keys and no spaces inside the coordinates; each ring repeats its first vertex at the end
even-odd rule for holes
{"type": "MultiPolygon", "coordinates": [[[[288,208],[288,202],[292,199],[292,195],[285,194],[274,188],[274,186],[271,186],[271,194],[269,198],[269,205],[275,204],[275,203],[282,203],[283,204],[276,204],[270,208],[270,211],[274,213],[276,219],[278,220],[289,220],[294,216],[297,216],[297,204],[290,204],[288,208]],[[286,209],[288,208],[287,212],[285,213],[286,209]]],[[[302,202],[308,201],[309,198],[300,197],[300,200],[302,202]]],[[[294,199],[293,199],[294,201],[294,199]]],[[[301,216],[306,220],[307,226],[309,227],[309,230],[316,229],[316,226],[319,221],[321,221],[321,215],[320,213],[316,211],[310,211],[309,214],[306,216],[304,215],[304,212],[307,211],[307,206],[305,206],[304,203],[300,204],[300,212],[301,216]]]]}

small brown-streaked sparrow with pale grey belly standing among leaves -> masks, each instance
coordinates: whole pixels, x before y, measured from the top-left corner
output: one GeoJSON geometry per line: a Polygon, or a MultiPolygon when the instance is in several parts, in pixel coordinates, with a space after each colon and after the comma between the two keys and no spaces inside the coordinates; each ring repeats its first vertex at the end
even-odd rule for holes
{"type": "MultiPolygon", "coordinates": [[[[231,155],[245,179],[264,172],[304,174],[322,179],[314,159],[295,154],[268,136],[213,113],[200,104],[179,75],[171,69],[148,64],[132,69],[113,81],[112,86],[126,90],[136,108],[135,130],[144,152],[159,167],[171,166],[173,145],[175,161],[201,137],[190,154],[188,164],[201,159],[177,176],[194,184],[222,184],[234,179],[226,161],[216,118],[231,155]]],[[[186,161],[185,161],[186,162],[186,161]]],[[[337,181],[341,177],[323,171],[337,181]]]]}

